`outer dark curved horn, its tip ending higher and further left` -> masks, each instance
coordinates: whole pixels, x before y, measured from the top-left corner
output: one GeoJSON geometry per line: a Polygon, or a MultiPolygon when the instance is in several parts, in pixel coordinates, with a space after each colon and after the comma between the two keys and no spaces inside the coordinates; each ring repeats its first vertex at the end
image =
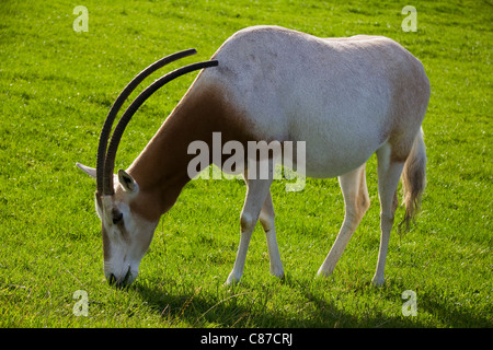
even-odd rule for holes
{"type": "Polygon", "coordinates": [[[164,58],[161,58],[160,60],[153,62],[149,67],[147,67],[145,70],[142,70],[140,73],[138,73],[125,89],[122,91],[122,93],[116,98],[115,103],[113,104],[112,108],[110,109],[106,120],[104,121],[103,129],[101,130],[100,135],[100,142],[98,145],[98,162],[96,162],[96,183],[98,183],[98,195],[101,196],[103,194],[103,174],[104,174],[104,163],[106,158],[106,148],[107,148],[107,141],[110,139],[110,133],[112,131],[113,122],[116,118],[116,115],[118,114],[118,110],[122,108],[122,105],[127,100],[127,97],[131,94],[131,92],[142,82],[144,79],[149,77],[151,73],[153,73],[156,70],[160,69],[161,67],[171,63],[177,59],[195,55],[197,51],[193,48],[183,50],[180,52],[172,54],[170,56],[167,56],[164,58]]]}

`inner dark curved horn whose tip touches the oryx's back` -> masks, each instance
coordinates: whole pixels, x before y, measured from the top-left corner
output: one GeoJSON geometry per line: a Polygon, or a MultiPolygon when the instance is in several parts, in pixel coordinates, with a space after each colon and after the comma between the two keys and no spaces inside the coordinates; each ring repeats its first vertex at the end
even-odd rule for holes
{"type": "Polygon", "coordinates": [[[113,170],[115,167],[115,156],[116,150],[118,149],[119,141],[122,139],[123,132],[125,131],[126,126],[130,121],[134,114],[137,109],[142,105],[142,103],[149,98],[156,91],[162,88],[164,84],[170,81],[190,73],[195,70],[214,67],[217,66],[217,60],[204,61],[198,63],[188,65],[176,69],[164,77],[161,77],[157,81],[154,81],[151,85],[149,85],[146,90],[144,90],[140,95],[128,106],[128,108],[123,114],[118,124],[115,127],[115,131],[113,132],[112,139],[110,141],[110,147],[107,149],[106,159],[104,162],[104,173],[103,173],[103,195],[112,196],[114,195],[114,186],[113,186],[113,170]]]}

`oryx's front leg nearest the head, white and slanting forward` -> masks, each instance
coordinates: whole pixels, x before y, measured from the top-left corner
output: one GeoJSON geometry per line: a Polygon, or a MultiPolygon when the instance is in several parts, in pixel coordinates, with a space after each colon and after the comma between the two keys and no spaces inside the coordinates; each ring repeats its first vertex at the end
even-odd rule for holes
{"type": "MultiPolygon", "coordinates": [[[[248,175],[245,174],[245,180],[248,175]]],[[[240,246],[237,253],[234,266],[229,273],[226,284],[238,282],[243,275],[244,261],[246,259],[246,250],[249,248],[250,238],[253,229],[259,220],[260,212],[267,197],[272,184],[271,179],[249,179],[246,180],[246,198],[244,200],[243,210],[241,211],[241,237],[240,246]]]]}

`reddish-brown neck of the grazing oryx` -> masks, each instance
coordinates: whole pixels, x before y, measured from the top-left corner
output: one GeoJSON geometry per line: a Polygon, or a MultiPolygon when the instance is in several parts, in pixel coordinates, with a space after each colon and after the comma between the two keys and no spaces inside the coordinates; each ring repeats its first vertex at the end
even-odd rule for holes
{"type": "Polygon", "coordinates": [[[174,205],[191,179],[187,166],[196,156],[187,154],[191,142],[205,141],[211,150],[213,132],[221,132],[222,143],[239,140],[245,144],[253,139],[248,130],[242,115],[219,89],[192,89],[128,168],[140,188],[134,209],[157,220],[174,205]]]}

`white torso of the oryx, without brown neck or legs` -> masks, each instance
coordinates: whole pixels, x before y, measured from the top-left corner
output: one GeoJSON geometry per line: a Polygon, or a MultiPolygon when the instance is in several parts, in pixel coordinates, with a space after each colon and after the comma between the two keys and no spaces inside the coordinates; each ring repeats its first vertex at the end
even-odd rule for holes
{"type": "MultiPolygon", "coordinates": [[[[219,67],[204,71],[194,88],[223,86],[260,139],[307,141],[310,177],[364,164],[395,119],[411,119],[409,133],[416,135],[426,109],[412,101],[412,110],[399,106],[413,96],[395,96],[398,86],[412,84],[416,73],[424,84],[427,79],[421,62],[386,37],[326,39],[256,26],[229,38],[214,58],[219,67]]],[[[425,84],[421,92],[428,90],[425,84]]]]}

